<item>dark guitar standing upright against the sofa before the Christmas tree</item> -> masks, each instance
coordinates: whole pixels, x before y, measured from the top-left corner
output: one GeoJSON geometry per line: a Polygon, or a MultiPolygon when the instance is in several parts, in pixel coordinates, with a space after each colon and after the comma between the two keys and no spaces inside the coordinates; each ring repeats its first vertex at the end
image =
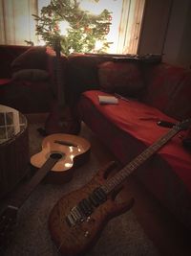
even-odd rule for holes
{"type": "Polygon", "coordinates": [[[67,84],[64,80],[66,63],[63,64],[60,54],[60,36],[55,38],[53,50],[56,54],[56,97],[51,106],[51,112],[45,122],[45,131],[48,135],[60,132],[77,134],[80,130],[80,123],[75,113],[74,106],[69,105],[66,99],[67,84]]]}

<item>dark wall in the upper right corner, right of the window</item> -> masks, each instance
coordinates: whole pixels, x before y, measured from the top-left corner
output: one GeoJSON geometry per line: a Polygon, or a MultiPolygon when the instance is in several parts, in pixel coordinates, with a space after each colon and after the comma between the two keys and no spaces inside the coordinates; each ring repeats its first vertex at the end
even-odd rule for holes
{"type": "Polygon", "coordinates": [[[175,0],[164,45],[164,60],[191,66],[191,1],[175,0]]]}

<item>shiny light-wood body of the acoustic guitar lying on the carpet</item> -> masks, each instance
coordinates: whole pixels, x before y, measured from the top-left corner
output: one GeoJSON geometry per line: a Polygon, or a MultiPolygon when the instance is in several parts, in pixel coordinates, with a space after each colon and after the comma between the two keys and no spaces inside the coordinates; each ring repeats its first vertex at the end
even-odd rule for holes
{"type": "Polygon", "coordinates": [[[31,164],[40,169],[50,157],[60,154],[60,158],[46,175],[45,181],[63,183],[71,180],[75,167],[88,160],[90,149],[90,143],[80,136],[55,133],[45,137],[42,151],[32,155],[31,164]]]}

